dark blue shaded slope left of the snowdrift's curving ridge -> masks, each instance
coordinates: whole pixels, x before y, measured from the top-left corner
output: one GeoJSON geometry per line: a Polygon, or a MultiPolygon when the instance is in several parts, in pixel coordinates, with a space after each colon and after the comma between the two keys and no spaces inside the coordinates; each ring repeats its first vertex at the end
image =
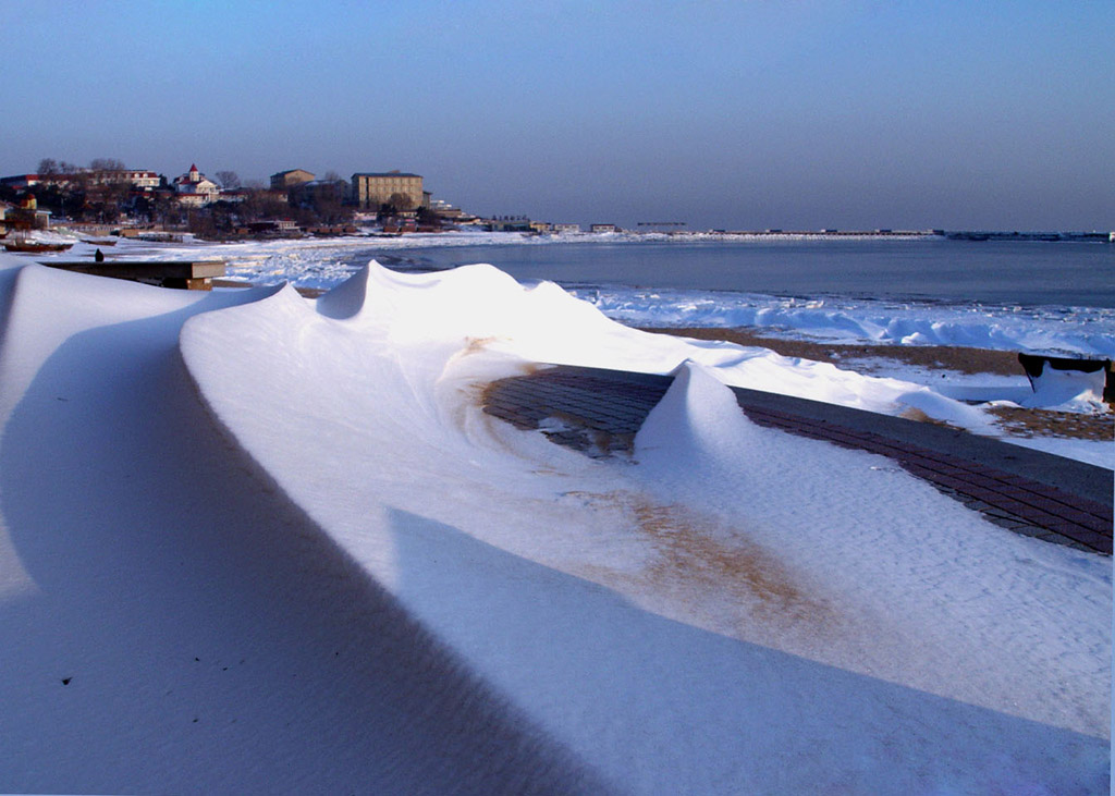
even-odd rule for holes
{"type": "Polygon", "coordinates": [[[213,307],[72,336],[3,428],[0,790],[599,793],[219,433],[213,307]]]}

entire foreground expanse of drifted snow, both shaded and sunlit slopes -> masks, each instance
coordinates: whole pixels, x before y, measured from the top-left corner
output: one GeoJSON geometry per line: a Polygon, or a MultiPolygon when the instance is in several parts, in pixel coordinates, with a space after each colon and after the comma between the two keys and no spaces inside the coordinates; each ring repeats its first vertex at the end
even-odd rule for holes
{"type": "Polygon", "coordinates": [[[977,409],[488,266],[311,301],[26,263],[0,256],[0,790],[1107,787],[1111,560],[756,427],[723,382],[977,409]],[[541,361],[679,376],[630,459],[590,459],[483,412],[541,361]]]}

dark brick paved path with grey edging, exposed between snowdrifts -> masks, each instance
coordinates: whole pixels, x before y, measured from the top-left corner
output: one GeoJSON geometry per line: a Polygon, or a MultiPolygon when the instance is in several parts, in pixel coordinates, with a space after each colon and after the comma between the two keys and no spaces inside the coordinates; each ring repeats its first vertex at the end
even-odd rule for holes
{"type": "MultiPolygon", "coordinates": [[[[671,377],[558,366],[503,379],[484,410],[593,456],[630,450],[671,377]],[[555,423],[553,419],[560,423],[555,423]]],[[[755,423],[888,456],[992,522],[1029,536],[1112,554],[1115,474],[929,423],[731,388],[755,423]]]]}

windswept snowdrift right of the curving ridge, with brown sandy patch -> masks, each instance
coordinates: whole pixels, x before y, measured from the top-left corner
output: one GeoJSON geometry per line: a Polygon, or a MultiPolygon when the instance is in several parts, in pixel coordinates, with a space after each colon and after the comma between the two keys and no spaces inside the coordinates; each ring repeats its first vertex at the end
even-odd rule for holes
{"type": "Polygon", "coordinates": [[[182,348],[283,493],[608,782],[1106,782],[1109,562],[990,526],[885,459],[752,427],[718,384],[738,349],[650,340],[487,266],[375,265],[317,307],[284,290],[197,316],[182,348]],[[478,406],[539,360],[702,357],[637,464],[478,406]]]}

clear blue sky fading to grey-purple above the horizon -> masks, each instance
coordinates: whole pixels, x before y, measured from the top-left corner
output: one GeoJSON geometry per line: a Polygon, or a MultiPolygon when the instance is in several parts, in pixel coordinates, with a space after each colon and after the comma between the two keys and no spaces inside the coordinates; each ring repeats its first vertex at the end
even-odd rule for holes
{"type": "Polygon", "coordinates": [[[17,2],[0,174],[399,168],[481,214],[1115,229],[1115,2],[17,2]]]}

